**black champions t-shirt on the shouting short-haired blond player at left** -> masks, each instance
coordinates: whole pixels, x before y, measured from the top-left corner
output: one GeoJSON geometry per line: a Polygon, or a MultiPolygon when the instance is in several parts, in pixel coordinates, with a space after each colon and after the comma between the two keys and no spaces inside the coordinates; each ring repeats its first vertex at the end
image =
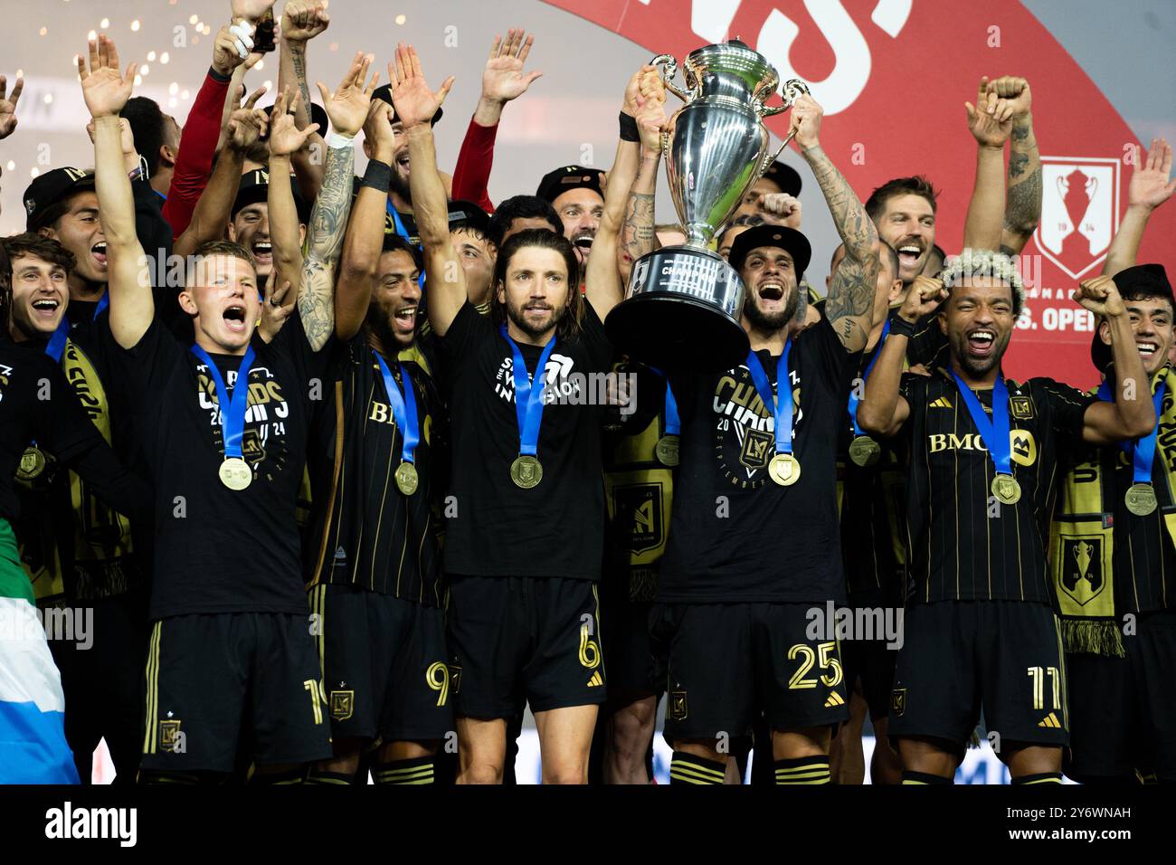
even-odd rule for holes
{"type": "MultiPolygon", "coordinates": [[[[307,611],[295,505],[310,411],[329,395],[323,353],[310,350],[298,314],[272,344],[254,334],[252,346],[241,439],[252,481],[241,491],[218,475],[225,454],[220,406],[192,346],[156,319],[134,348],[120,352],[155,483],[152,619],[307,611]]],[[[232,394],[241,358],[211,357],[232,394]]]]}

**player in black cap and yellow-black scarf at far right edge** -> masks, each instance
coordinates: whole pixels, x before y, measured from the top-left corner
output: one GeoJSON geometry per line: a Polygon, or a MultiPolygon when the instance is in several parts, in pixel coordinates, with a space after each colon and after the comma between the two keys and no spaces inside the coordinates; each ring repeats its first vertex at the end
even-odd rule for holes
{"type": "MultiPolygon", "coordinates": [[[[1065,773],[1083,784],[1176,781],[1176,544],[1165,515],[1174,504],[1176,301],[1161,265],[1135,264],[1151,213],[1176,192],[1170,174],[1171,147],[1154,140],[1131,174],[1127,214],[1103,267],[1127,305],[1156,428],[1121,446],[1082,450],[1063,481],[1050,539],[1073,719],[1065,773]]],[[[1100,322],[1090,353],[1104,374],[1096,391],[1104,399],[1116,387],[1109,324],[1100,322]]]]}

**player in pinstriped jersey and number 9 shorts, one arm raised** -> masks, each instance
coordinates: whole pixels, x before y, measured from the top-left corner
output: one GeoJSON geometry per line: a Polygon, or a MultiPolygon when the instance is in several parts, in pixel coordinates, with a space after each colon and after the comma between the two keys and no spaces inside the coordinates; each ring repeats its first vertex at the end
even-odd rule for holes
{"type": "MultiPolygon", "coordinates": [[[[355,199],[335,288],[330,398],[310,440],[312,610],[321,618],[325,696],[335,756],[312,783],[348,784],[376,748],[376,784],[430,784],[453,730],[440,491],[445,414],[415,344],[420,253],[383,233],[392,109],[373,100],[372,160],[355,199]]],[[[270,151],[292,121],[279,121],[270,151]]],[[[363,780],[363,779],[359,779],[363,780]]]]}

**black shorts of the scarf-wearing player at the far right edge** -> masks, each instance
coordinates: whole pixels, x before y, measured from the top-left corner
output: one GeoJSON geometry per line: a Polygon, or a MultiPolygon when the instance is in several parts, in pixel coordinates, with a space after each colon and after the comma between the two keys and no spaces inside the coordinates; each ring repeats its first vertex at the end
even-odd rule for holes
{"type": "Polygon", "coordinates": [[[1125,658],[1067,654],[1070,756],[1077,781],[1154,771],[1176,781],[1176,611],[1136,614],[1125,658]]]}

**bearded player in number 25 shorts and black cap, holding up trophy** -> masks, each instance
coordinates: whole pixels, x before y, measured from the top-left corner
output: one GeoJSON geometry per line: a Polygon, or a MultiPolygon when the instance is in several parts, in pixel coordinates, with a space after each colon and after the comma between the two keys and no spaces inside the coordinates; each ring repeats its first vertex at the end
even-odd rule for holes
{"type": "Polygon", "coordinates": [[[826,315],[804,331],[796,318],[804,235],[749,228],[730,252],[746,285],[747,360],[715,375],[670,374],[682,460],[650,632],[669,644],[673,784],[722,784],[730,743],[757,708],[775,781],[827,784],[830,731],[847,717],[837,641],[809,636],[809,611],[844,593],[837,435],[873,325],[878,240],[820,146],[821,114],[811,97],[791,109],[847,249],[826,315]]]}

